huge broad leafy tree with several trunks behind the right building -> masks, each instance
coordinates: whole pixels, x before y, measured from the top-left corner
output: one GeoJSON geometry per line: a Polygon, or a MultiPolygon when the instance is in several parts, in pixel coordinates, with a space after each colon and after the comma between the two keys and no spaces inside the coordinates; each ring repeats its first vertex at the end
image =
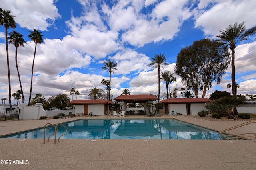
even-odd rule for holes
{"type": "Polygon", "coordinates": [[[200,91],[203,91],[204,98],[207,88],[212,87],[212,82],[220,84],[229,63],[229,52],[223,43],[202,39],[181,49],[177,56],[175,72],[188,89],[194,90],[196,98],[200,91]]]}

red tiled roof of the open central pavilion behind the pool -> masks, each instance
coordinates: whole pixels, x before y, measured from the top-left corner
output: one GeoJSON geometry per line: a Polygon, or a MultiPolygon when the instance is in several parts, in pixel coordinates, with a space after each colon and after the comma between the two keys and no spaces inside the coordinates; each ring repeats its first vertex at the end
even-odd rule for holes
{"type": "Polygon", "coordinates": [[[126,103],[144,103],[148,101],[156,101],[158,98],[152,94],[121,94],[120,96],[114,98],[114,100],[117,102],[124,101],[126,103]]]}

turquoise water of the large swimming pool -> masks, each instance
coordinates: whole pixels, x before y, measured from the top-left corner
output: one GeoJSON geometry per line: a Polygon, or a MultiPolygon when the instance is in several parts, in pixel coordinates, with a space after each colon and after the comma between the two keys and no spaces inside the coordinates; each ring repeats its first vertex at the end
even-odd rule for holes
{"type": "MultiPolygon", "coordinates": [[[[61,139],[207,139],[220,140],[218,132],[170,119],[80,119],[63,123],[68,133],[61,139]]],[[[58,126],[57,138],[66,132],[58,126]]],[[[46,139],[54,133],[46,127],[46,139]]],[[[35,129],[2,138],[43,138],[44,129],[35,129]]],[[[54,135],[53,135],[54,136],[54,135]]],[[[54,137],[51,138],[54,138],[54,137]]]]}

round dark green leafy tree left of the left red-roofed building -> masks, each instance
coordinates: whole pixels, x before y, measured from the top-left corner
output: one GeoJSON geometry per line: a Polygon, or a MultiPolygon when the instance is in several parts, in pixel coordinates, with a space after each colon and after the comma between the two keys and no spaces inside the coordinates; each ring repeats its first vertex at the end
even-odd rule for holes
{"type": "Polygon", "coordinates": [[[48,102],[50,103],[50,106],[57,107],[60,110],[65,109],[66,107],[69,107],[68,102],[70,102],[70,98],[67,94],[57,94],[57,96],[51,96],[48,98],[48,102]]]}

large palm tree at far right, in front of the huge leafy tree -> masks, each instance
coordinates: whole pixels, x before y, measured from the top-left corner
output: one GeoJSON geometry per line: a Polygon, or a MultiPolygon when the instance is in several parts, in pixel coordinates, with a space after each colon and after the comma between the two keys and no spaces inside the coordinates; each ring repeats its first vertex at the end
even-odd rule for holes
{"type": "Polygon", "coordinates": [[[250,35],[254,35],[256,33],[256,27],[252,27],[250,29],[245,28],[244,22],[238,25],[237,22],[234,25],[229,25],[226,29],[220,31],[220,34],[217,35],[219,41],[222,41],[230,46],[231,50],[231,84],[232,84],[232,95],[236,96],[236,79],[235,79],[235,48],[236,43],[247,40],[247,37],[250,35]]]}

